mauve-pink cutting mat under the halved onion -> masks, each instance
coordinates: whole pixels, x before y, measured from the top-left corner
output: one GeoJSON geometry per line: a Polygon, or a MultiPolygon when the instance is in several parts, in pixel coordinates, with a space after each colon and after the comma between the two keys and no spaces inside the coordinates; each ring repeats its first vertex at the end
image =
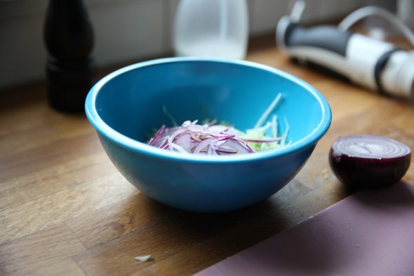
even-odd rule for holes
{"type": "Polygon", "coordinates": [[[355,193],[196,276],[414,275],[414,186],[355,193]]]}

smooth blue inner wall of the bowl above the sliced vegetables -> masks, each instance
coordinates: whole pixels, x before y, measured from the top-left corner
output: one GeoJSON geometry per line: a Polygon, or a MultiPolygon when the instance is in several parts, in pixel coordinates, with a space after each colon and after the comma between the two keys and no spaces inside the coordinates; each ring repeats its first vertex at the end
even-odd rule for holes
{"type": "Polygon", "coordinates": [[[184,59],[121,70],[101,81],[95,108],[108,126],[141,142],[161,124],[172,126],[163,106],[178,124],[217,119],[246,130],[281,92],[282,101],[273,114],[281,133],[286,130],[286,117],[293,143],[322,124],[326,112],[311,86],[266,66],[184,59]]]}

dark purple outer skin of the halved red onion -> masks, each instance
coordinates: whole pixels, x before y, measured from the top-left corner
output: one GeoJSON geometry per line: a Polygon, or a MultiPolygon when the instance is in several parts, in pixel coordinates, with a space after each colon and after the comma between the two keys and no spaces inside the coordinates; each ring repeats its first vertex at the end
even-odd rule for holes
{"type": "Polygon", "coordinates": [[[351,190],[381,188],[397,183],[408,170],[411,152],[401,157],[367,158],[338,155],[331,148],[329,164],[336,177],[351,190]]]}

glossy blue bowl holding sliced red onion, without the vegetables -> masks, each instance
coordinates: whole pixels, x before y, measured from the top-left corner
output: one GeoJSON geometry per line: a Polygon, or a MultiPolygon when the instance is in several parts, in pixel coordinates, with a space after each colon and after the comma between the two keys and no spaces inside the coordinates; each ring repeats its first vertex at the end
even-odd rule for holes
{"type": "Polygon", "coordinates": [[[121,68],[86,99],[86,115],[118,170],[142,193],[201,212],[234,210],[266,199],[304,166],[331,124],[324,97],[308,83],[248,61],[168,58],[121,68]],[[216,118],[252,128],[278,92],[279,131],[289,146],[244,155],[184,155],[148,146],[148,132],[178,122],[216,118]]]}

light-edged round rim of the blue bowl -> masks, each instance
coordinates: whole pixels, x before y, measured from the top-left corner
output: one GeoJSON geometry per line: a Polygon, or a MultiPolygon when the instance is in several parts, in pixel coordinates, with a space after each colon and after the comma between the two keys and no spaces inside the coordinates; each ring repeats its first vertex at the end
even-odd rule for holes
{"type": "Polygon", "coordinates": [[[288,155],[291,152],[303,150],[316,144],[320,138],[326,133],[329,126],[331,126],[332,114],[331,114],[331,107],[326,101],[325,97],[317,91],[313,86],[311,86],[306,81],[299,79],[293,75],[290,75],[287,72],[282,70],[278,70],[276,68],[266,66],[261,63],[255,63],[253,61],[244,61],[244,60],[236,60],[236,59],[222,59],[222,58],[212,58],[212,57],[167,57],[161,59],[152,59],[149,61],[142,61],[139,63],[134,63],[130,66],[125,66],[124,68],[120,68],[111,72],[110,74],[106,75],[90,89],[85,101],[85,111],[86,117],[90,121],[90,124],[99,132],[99,134],[103,135],[113,143],[132,150],[133,152],[137,152],[139,154],[148,155],[150,157],[157,157],[159,159],[170,159],[175,161],[193,161],[193,162],[201,162],[201,163],[228,163],[228,162],[246,162],[246,161],[258,161],[264,159],[270,159],[274,157],[281,157],[284,155],[288,155]],[[276,75],[289,79],[293,81],[299,86],[304,87],[308,92],[311,92],[313,97],[317,99],[319,105],[322,108],[322,121],[319,122],[318,126],[306,137],[295,141],[292,144],[284,148],[279,148],[277,150],[269,150],[266,152],[255,152],[254,154],[242,154],[242,155],[221,155],[221,156],[214,156],[214,155],[185,155],[181,152],[172,152],[170,150],[163,150],[160,148],[156,148],[154,146],[149,146],[143,142],[137,141],[126,135],[121,134],[117,130],[108,126],[108,124],[99,117],[99,113],[95,106],[95,101],[97,99],[97,95],[101,88],[108,83],[111,79],[122,75],[126,72],[131,70],[135,70],[137,68],[143,68],[146,66],[154,66],[161,63],[177,63],[177,62],[197,62],[197,61],[208,61],[208,62],[217,62],[217,63],[231,63],[240,66],[248,66],[257,69],[266,70],[268,72],[273,72],[276,75]]]}

